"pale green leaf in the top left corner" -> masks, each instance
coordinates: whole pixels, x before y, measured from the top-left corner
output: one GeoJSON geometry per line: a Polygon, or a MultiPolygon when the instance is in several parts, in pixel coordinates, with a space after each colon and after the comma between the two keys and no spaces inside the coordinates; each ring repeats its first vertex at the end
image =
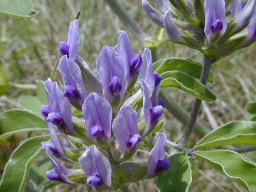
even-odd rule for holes
{"type": "Polygon", "coordinates": [[[32,10],[30,0],[0,0],[0,14],[30,18],[37,13],[32,10]]]}

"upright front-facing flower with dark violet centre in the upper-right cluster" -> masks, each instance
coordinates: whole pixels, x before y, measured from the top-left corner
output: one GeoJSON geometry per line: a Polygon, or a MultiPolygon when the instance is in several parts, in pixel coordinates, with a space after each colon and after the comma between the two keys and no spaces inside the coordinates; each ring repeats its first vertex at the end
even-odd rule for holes
{"type": "Polygon", "coordinates": [[[211,39],[217,33],[222,36],[227,28],[225,1],[224,0],[205,0],[205,25],[204,33],[211,39]]]}

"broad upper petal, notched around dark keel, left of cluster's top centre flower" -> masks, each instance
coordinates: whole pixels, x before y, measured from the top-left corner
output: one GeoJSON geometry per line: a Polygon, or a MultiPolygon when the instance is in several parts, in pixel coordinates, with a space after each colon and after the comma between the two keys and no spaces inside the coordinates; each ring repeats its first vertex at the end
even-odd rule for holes
{"type": "Polygon", "coordinates": [[[120,90],[120,97],[122,98],[125,91],[122,58],[113,48],[103,46],[97,57],[96,65],[106,100],[109,100],[109,84],[114,76],[117,76],[122,81],[122,89],[120,90]]]}

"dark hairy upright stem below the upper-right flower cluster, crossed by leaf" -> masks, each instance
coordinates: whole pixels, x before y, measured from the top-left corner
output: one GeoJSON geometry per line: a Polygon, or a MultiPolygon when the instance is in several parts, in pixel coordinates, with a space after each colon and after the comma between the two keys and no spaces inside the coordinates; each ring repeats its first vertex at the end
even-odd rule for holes
{"type": "MultiPolygon", "coordinates": [[[[200,82],[204,85],[206,85],[207,83],[208,76],[210,74],[210,69],[213,62],[214,62],[214,59],[211,56],[204,54],[204,66],[203,66],[201,77],[200,77],[200,82]]],[[[190,117],[188,119],[188,123],[185,128],[184,134],[182,135],[182,138],[179,142],[180,146],[186,146],[186,144],[188,143],[188,140],[194,130],[194,126],[196,123],[196,118],[199,113],[201,102],[202,100],[196,98],[190,117]]]]}

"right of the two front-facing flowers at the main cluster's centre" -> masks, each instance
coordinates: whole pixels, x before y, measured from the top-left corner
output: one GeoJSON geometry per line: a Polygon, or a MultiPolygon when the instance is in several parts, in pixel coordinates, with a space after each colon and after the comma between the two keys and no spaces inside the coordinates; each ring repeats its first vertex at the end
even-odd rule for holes
{"type": "Polygon", "coordinates": [[[131,106],[122,106],[112,124],[122,154],[130,152],[142,141],[137,125],[137,112],[131,106]]]}

